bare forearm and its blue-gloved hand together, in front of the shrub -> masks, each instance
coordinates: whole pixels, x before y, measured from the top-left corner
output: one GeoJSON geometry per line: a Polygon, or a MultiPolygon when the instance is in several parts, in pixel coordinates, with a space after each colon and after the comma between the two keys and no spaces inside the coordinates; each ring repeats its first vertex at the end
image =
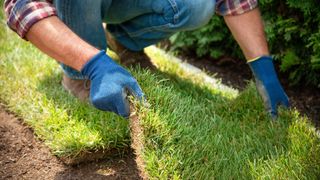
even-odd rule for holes
{"type": "Polygon", "coordinates": [[[269,56],[259,9],[238,16],[225,16],[225,21],[246,56],[265,108],[275,119],[278,105],[289,107],[289,99],[278,80],[272,57],[269,56]]]}

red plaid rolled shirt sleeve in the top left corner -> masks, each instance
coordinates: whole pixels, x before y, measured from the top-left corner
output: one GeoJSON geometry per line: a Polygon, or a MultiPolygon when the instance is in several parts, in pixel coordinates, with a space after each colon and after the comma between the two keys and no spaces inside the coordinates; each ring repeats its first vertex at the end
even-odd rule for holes
{"type": "Polygon", "coordinates": [[[52,0],[5,0],[4,8],[8,26],[22,38],[33,24],[56,15],[52,0]]]}

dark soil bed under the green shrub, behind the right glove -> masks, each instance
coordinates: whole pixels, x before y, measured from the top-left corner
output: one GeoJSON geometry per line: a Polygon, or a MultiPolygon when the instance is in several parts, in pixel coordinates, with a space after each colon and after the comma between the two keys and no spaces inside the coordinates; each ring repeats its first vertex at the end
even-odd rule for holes
{"type": "MultiPolygon", "coordinates": [[[[224,57],[219,60],[210,58],[196,59],[193,55],[183,56],[188,63],[208,72],[216,74],[222,82],[233,88],[242,90],[252,79],[249,66],[241,60],[224,57]]],[[[279,71],[278,71],[279,72],[279,71]]],[[[281,84],[290,98],[291,106],[302,115],[307,115],[316,127],[320,128],[320,88],[299,85],[290,86],[286,74],[278,73],[281,84]]]]}

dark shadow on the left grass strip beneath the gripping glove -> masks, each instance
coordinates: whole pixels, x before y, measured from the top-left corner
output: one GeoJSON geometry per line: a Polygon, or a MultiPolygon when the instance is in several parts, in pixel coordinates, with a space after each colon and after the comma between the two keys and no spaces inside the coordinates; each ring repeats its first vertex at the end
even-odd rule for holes
{"type": "MultiPolygon", "coordinates": [[[[72,151],[75,148],[79,148],[81,144],[79,144],[78,147],[74,147],[77,146],[77,144],[70,144],[70,146],[66,145],[66,147],[70,147],[70,150],[66,149],[66,156],[63,156],[62,154],[61,158],[68,164],[77,164],[81,163],[82,161],[90,161],[90,159],[95,160],[100,156],[104,157],[104,155],[111,156],[112,154],[126,154],[128,151],[130,151],[130,139],[128,133],[129,129],[127,128],[128,122],[120,117],[117,117],[114,114],[104,113],[102,111],[96,110],[88,103],[80,102],[75,97],[67,93],[61,86],[60,74],[45,76],[44,79],[40,81],[40,84],[37,87],[37,91],[45,95],[45,98],[49,102],[52,101],[55,109],[62,109],[62,111],[66,111],[69,120],[73,120],[76,121],[76,123],[84,125],[89,131],[97,131],[99,137],[102,139],[101,141],[111,141],[106,145],[103,144],[103,142],[100,142],[100,144],[98,144],[97,146],[99,147],[99,145],[101,145],[102,147],[104,147],[104,149],[101,150],[96,149],[95,147],[97,146],[92,146],[92,150],[85,149],[85,147],[80,147],[84,149],[82,149],[82,151],[80,152],[77,152],[76,156],[69,156],[68,151],[70,151],[71,154],[75,153],[76,151],[72,151]],[[111,129],[111,131],[117,131],[115,131],[115,134],[113,135],[108,132],[107,128],[115,128],[111,129]],[[113,137],[108,138],[108,135],[113,137]],[[109,149],[109,147],[111,148],[109,149]],[[87,158],[86,156],[89,157],[87,158]],[[73,158],[74,160],[72,160],[73,158]]],[[[70,121],[70,126],[74,124],[75,122],[70,121]]],[[[81,134],[82,132],[78,133],[81,134]]],[[[81,141],[81,139],[73,140],[74,141],[70,141],[70,143],[78,143],[77,141],[81,141]]]]}

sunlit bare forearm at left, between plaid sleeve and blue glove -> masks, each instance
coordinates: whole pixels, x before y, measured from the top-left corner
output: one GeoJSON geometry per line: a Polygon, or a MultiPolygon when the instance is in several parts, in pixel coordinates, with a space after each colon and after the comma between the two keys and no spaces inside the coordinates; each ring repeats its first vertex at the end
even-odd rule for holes
{"type": "Polygon", "coordinates": [[[73,33],[57,16],[34,24],[26,38],[47,55],[76,70],[81,70],[99,52],[73,33]]]}

